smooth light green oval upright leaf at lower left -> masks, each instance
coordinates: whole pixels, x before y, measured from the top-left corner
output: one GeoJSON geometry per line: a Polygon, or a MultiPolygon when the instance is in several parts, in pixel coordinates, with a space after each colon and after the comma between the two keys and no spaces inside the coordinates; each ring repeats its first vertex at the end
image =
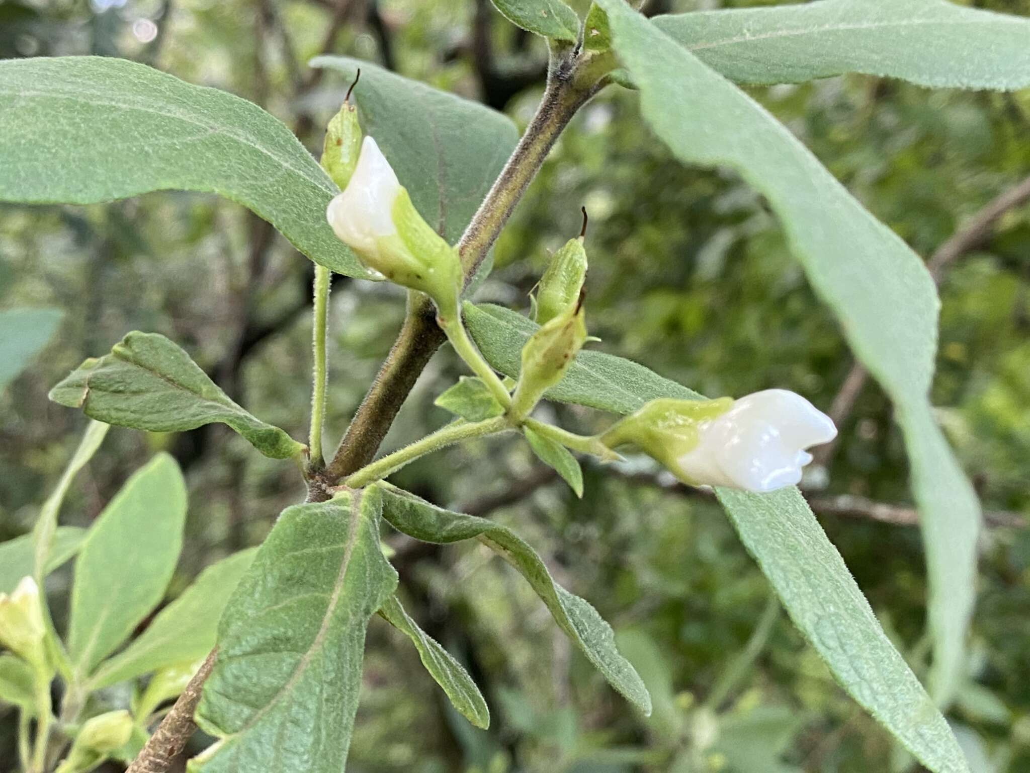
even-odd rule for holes
{"type": "Polygon", "coordinates": [[[182,549],[186,486],[167,453],[126,481],[75,560],[68,653],[82,680],[165,595],[182,549]]]}

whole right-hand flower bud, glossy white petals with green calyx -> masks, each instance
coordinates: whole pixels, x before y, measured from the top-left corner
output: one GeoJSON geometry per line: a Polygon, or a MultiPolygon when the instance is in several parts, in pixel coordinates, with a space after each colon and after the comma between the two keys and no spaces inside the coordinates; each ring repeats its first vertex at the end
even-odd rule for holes
{"type": "Polygon", "coordinates": [[[690,485],[770,492],[799,482],[806,449],[834,437],[830,417],[803,397],[765,390],[739,400],[653,400],[602,440],[633,443],[690,485]]]}

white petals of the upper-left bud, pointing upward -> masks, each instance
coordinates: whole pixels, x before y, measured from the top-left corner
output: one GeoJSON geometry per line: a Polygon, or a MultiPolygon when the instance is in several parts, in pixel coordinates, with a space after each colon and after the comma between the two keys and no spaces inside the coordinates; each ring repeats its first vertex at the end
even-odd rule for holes
{"type": "Polygon", "coordinates": [[[337,237],[354,251],[378,251],[376,240],[397,234],[393,204],[401,183],[372,137],[362,143],[357,166],[343,193],[329,203],[325,216],[337,237]]]}

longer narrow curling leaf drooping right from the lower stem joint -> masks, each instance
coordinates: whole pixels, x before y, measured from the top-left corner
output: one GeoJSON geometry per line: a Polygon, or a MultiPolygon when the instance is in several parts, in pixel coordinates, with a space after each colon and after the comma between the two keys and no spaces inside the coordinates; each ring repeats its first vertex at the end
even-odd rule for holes
{"type": "Polygon", "coordinates": [[[651,713],[651,697],[633,667],[619,654],[611,626],[589,603],[555,583],[537,551],[518,535],[491,520],[444,510],[388,483],[378,485],[383,492],[383,517],[398,531],[438,544],[478,539],[515,567],[609,683],[645,714],[651,713]]]}

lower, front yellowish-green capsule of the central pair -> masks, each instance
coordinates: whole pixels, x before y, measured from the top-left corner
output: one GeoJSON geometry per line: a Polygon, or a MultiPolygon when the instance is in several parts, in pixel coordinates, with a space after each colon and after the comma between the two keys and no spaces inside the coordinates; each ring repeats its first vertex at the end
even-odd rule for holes
{"type": "Polygon", "coordinates": [[[522,347],[522,369],[512,397],[513,415],[525,416],[544,393],[564,376],[586,341],[583,299],[550,320],[522,347]]]}

